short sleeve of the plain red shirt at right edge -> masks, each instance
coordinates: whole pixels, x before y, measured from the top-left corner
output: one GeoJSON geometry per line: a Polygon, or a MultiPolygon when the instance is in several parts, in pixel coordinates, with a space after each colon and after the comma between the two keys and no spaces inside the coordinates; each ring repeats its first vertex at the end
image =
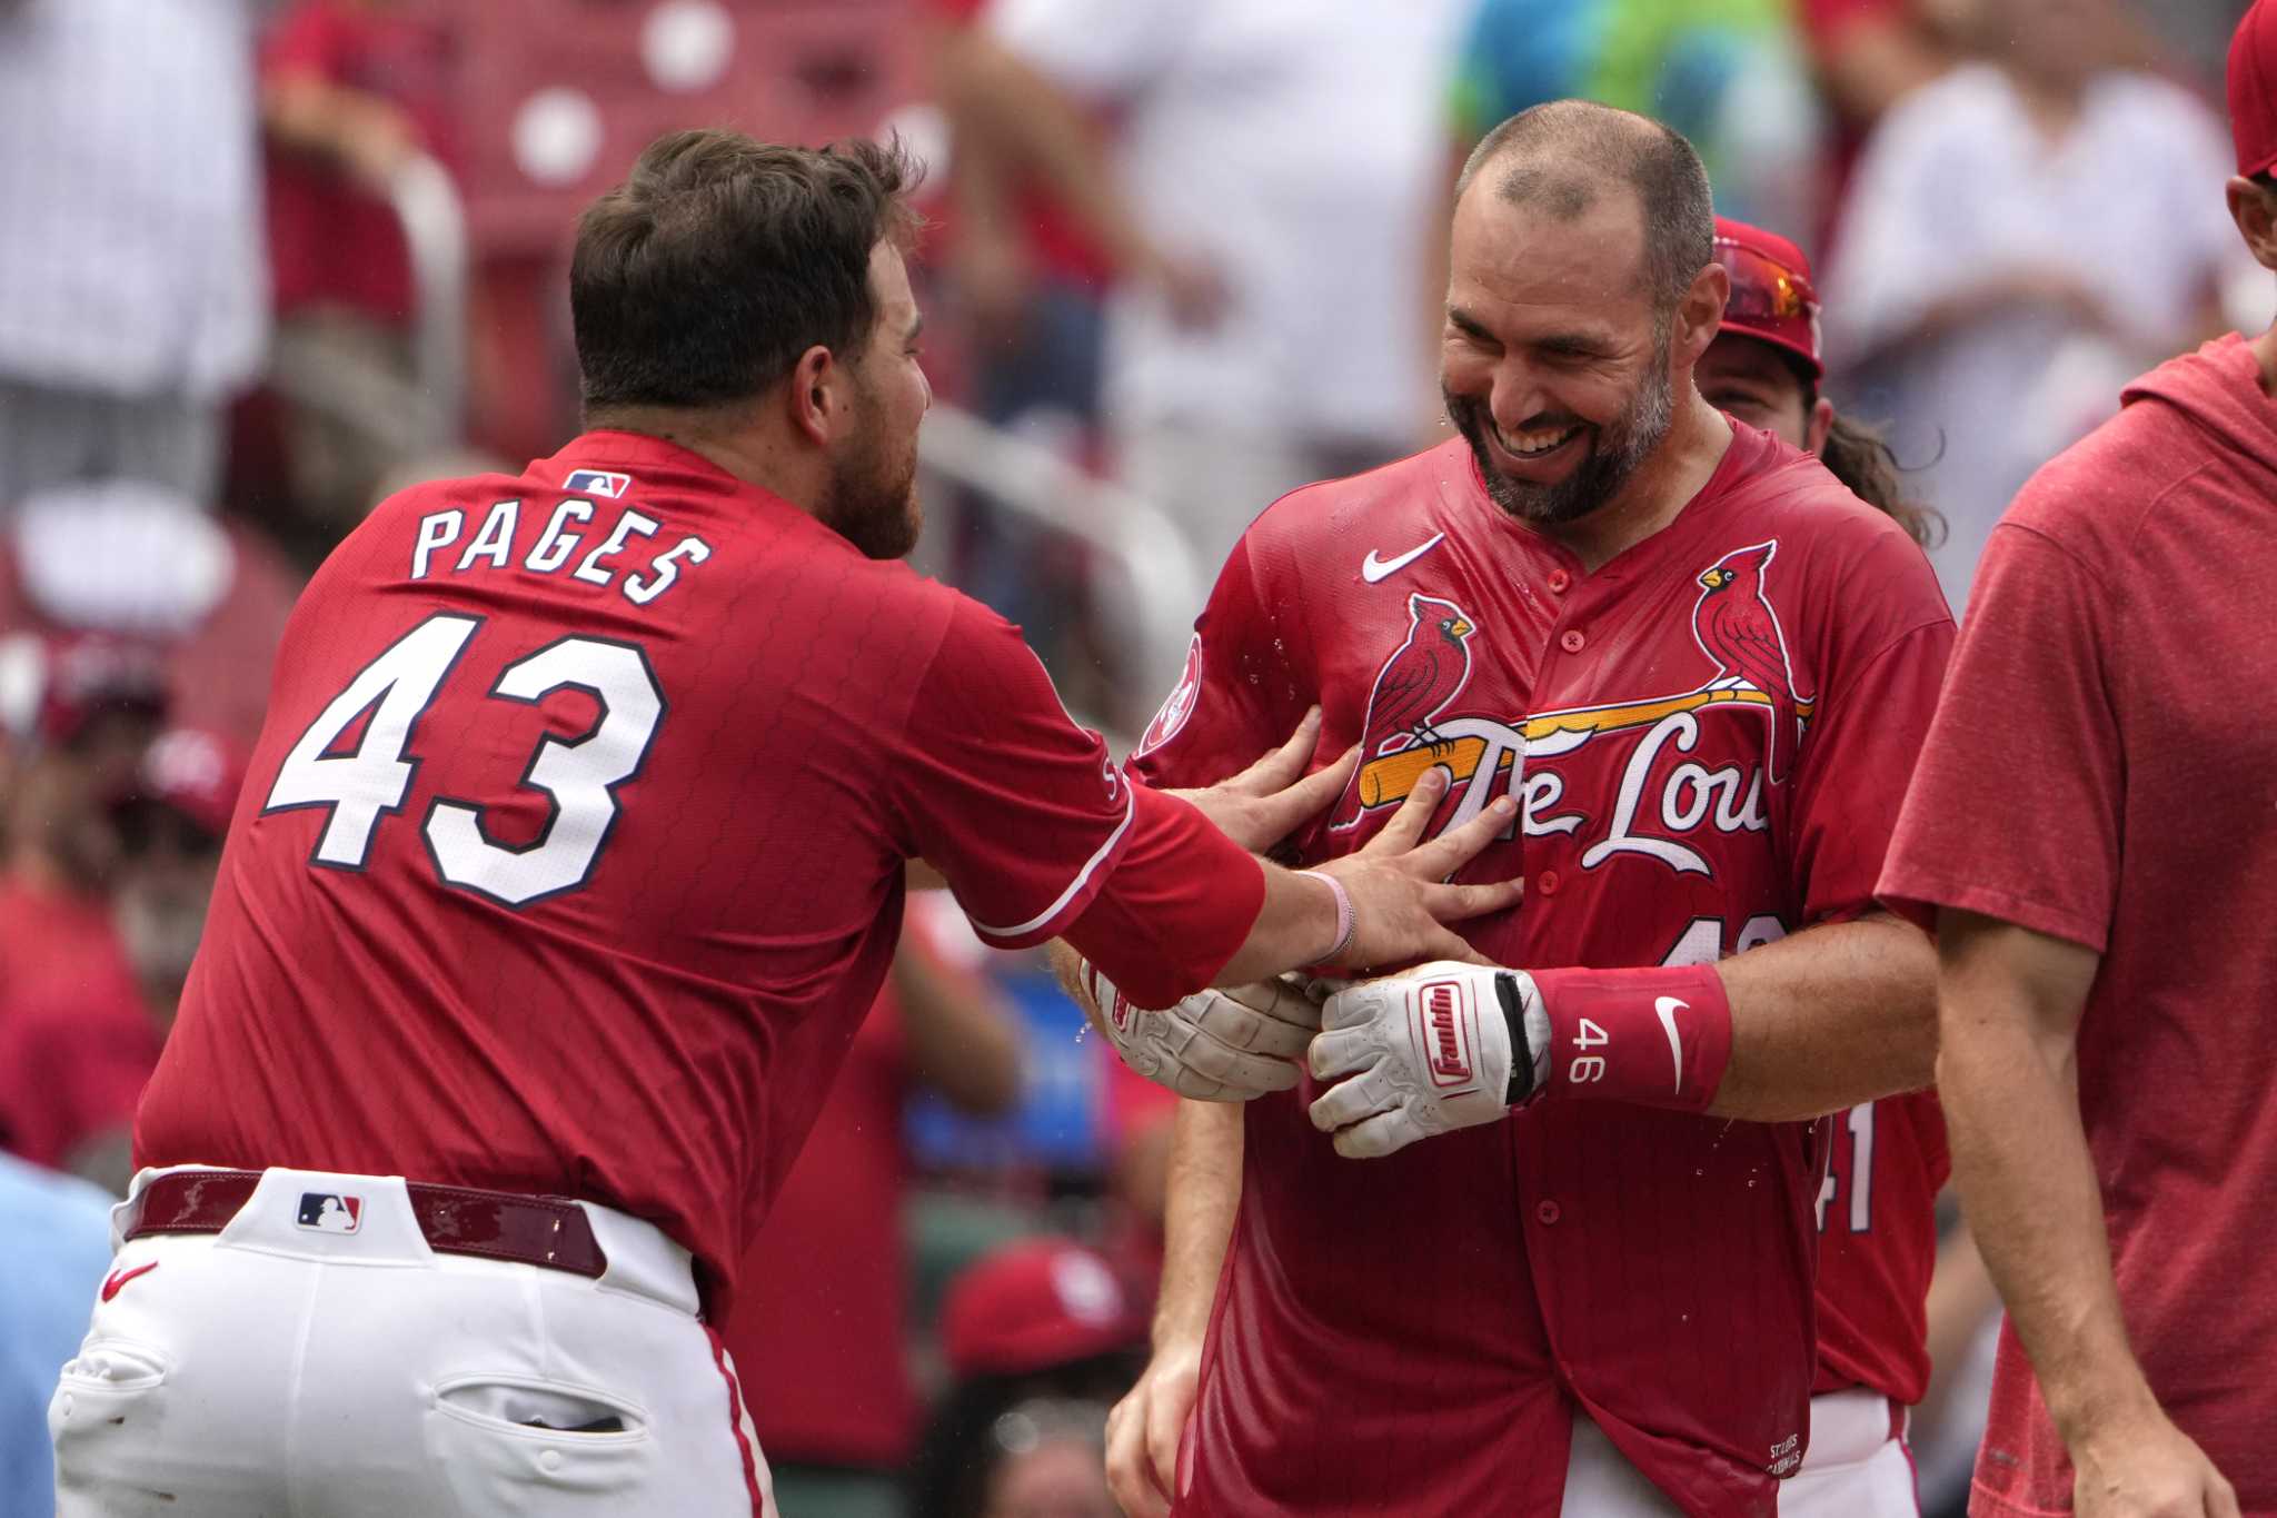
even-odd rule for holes
{"type": "Polygon", "coordinates": [[[1954,906],[2106,944],[2120,872],[2120,733],[2099,651],[2111,596],[2070,551],[1992,530],[1970,626],[1881,876],[1922,926],[1954,906]]]}

